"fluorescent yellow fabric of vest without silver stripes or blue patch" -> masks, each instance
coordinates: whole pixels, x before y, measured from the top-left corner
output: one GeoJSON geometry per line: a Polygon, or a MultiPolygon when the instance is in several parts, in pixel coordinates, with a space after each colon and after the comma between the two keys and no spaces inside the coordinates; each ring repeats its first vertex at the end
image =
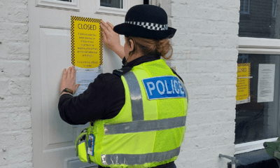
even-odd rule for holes
{"type": "MultiPolygon", "coordinates": [[[[172,70],[165,64],[163,59],[153,62],[146,62],[134,66],[131,70],[139,83],[141,90],[144,121],[162,120],[169,118],[179,118],[186,116],[188,110],[188,101],[186,98],[169,98],[148,100],[146,90],[142,83],[144,78],[153,78],[157,76],[175,76],[172,70]]],[[[162,160],[161,162],[146,162],[141,165],[125,165],[120,158],[123,155],[153,155],[153,153],[164,153],[174,151],[181,146],[183,142],[186,126],[161,129],[148,132],[130,132],[125,134],[105,134],[108,127],[106,125],[116,125],[119,123],[135,123],[132,120],[132,102],[130,99],[130,88],[128,87],[125,75],[121,77],[125,87],[125,105],[118,116],[109,120],[98,120],[94,122],[92,133],[95,137],[94,156],[90,156],[93,162],[103,167],[156,167],[176,160],[177,155],[162,160]],[[104,126],[105,125],[105,126],[104,126]],[[118,158],[118,154],[120,157],[118,158]],[[116,155],[107,162],[106,155],[116,155]],[[102,158],[103,157],[103,158],[102,158]],[[105,161],[104,161],[105,160],[105,161]],[[118,161],[118,162],[117,162],[118,161]]],[[[167,123],[168,124],[168,123],[167,123]]],[[[118,127],[116,127],[118,128],[118,127]]],[[[127,128],[128,129],[128,128],[127,128]]],[[[89,131],[89,130],[88,130],[89,131]]],[[[172,155],[171,155],[172,156],[172,155]]],[[[130,157],[128,157],[130,158],[130,157]]],[[[153,158],[152,158],[153,159],[153,158]]],[[[135,159],[137,160],[137,158],[135,159]]],[[[130,162],[131,163],[131,162],[130,162]]]]}

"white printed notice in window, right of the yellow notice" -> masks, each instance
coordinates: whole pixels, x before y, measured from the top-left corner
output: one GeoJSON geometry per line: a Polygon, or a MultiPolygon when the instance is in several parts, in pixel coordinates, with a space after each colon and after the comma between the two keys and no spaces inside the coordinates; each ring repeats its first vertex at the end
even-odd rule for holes
{"type": "Polygon", "coordinates": [[[258,66],[258,103],[273,102],[275,64],[258,66]]]}

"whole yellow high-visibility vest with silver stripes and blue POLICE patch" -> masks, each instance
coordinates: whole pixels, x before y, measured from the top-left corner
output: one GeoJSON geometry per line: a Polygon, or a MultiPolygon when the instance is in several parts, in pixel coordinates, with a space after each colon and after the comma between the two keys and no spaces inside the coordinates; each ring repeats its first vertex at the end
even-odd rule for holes
{"type": "Polygon", "coordinates": [[[188,93],[163,59],[121,76],[125,105],[115,118],[97,120],[94,155],[103,167],[156,167],[176,160],[186,131],[188,93]]]}

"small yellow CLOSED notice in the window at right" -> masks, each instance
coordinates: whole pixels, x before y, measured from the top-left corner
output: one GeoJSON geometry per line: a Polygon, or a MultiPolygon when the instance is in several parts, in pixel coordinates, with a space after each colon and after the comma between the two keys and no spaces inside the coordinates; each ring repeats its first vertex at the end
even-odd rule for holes
{"type": "Polygon", "coordinates": [[[236,104],[244,104],[250,102],[250,73],[250,63],[238,64],[236,104]]]}

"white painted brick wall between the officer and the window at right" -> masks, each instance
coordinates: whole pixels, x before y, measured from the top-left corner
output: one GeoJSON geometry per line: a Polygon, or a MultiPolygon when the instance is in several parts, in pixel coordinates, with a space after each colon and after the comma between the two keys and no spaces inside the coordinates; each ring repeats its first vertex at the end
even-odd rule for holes
{"type": "MultiPolygon", "coordinates": [[[[160,3],[165,3],[160,1],[160,3]]],[[[178,168],[227,167],[235,152],[239,1],[172,0],[172,66],[190,97],[178,168]]]]}

